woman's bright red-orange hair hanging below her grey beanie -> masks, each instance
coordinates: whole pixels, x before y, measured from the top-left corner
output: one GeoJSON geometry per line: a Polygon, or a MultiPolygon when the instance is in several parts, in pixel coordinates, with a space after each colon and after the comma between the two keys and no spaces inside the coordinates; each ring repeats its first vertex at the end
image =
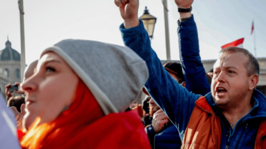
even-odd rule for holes
{"type": "Polygon", "coordinates": [[[67,145],[80,141],[71,139],[73,136],[86,137],[83,129],[103,116],[95,97],[79,80],[76,97],[68,109],[50,123],[35,127],[33,124],[33,128],[22,138],[21,145],[25,149],[55,149],[56,145],[61,144],[68,148],[67,145]]]}

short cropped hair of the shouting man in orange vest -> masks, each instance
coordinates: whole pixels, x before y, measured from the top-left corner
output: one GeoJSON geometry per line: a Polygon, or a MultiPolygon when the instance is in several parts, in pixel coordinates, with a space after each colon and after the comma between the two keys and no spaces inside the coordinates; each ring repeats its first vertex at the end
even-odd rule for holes
{"type": "Polygon", "coordinates": [[[260,75],[260,64],[258,60],[246,49],[238,48],[238,47],[228,47],[225,49],[222,49],[220,53],[235,53],[235,52],[242,52],[244,53],[248,58],[249,61],[247,62],[247,75],[251,76],[253,74],[260,75]]]}

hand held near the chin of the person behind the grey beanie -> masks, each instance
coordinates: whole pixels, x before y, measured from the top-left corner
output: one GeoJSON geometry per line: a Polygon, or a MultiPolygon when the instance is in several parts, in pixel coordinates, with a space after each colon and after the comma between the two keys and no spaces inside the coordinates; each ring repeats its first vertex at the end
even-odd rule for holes
{"type": "Polygon", "coordinates": [[[164,125],[166,123],[168,123],[168,117],[166,116],[166,114],[163,112],[162,109],[156,111],[153,115],[153,119],[152,119],[152,127],[153,130],[156,133],[159,133],[162,131],[162,129],[164,128],[164,125]]]}

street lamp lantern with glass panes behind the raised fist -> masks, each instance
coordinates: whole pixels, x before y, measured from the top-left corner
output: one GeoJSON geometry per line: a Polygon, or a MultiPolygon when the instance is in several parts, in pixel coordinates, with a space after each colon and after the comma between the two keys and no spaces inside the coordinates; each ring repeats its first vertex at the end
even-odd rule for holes
{"type": "Polygon", "coordinates": [[[146,6],[143,15],[139,19],[142,20],[144,28],[147,30],[149,37],[152,38],[157,18],[150,15],[149,10],[146,6]]]}

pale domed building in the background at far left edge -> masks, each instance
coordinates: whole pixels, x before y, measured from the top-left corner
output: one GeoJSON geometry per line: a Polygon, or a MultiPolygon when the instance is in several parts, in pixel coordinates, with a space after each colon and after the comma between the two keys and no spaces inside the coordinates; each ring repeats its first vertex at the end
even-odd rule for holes
{"type": "Polygon", "coordinates": [[[5,97],[5,85],[15,84],[20,80],[20,54],[12,49],[11,42],[7,39],[5,48],[0,51],[0,87],[5,97]]]}

